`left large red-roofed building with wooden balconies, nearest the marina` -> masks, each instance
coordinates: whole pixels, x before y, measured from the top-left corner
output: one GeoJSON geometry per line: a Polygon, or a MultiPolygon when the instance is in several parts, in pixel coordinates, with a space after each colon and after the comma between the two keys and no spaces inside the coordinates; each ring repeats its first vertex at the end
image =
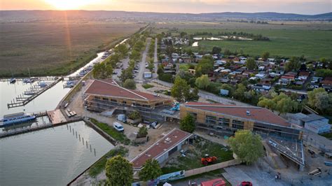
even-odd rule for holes
{"type": "Polygon", "coordinates": [[[158,94],[148,94],[120,87],[114,80],[93,80],[84,92],[84,106],[87,110],[104,112],[106,110],[152,111],[162,106],[171,106],[172,99],[158,94]]]}

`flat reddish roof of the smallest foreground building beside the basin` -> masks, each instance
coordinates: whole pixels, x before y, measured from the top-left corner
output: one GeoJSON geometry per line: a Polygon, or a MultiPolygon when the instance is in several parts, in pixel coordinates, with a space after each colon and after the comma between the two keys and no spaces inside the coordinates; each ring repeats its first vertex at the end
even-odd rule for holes
{"type": "Polygon", "coordinates": [[[140,155],[132,159],[132,161],[130,161],[132,162],[132,167],[134,169],[141,169],[148,159],[157,159],[175,146],[179,145],[182,141],[185,141],[191,135],[192,134],[186,131],[173,129],[166,136],[151,145],[150,148],[144,150],[144,152],[141,152],[140,155]]]}

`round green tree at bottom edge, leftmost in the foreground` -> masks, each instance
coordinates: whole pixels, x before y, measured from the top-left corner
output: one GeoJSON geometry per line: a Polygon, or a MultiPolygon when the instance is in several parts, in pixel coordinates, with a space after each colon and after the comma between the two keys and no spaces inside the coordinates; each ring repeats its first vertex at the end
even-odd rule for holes
{"type": "Polygon", "coordinates": [[[132,185],[132,164],[120,155],[108,159],[105,170],[109,185],[132,185]]]}

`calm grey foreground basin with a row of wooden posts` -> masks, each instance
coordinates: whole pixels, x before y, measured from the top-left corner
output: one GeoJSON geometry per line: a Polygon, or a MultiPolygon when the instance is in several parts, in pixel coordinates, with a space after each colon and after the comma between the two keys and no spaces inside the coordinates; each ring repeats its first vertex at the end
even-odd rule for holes
{"type": "Polygon", "coordinates": [[[81,141],[67,125],[0,139],[0,185],[67,185],[113,148],[84,122],[69,126],[81,141]]]}

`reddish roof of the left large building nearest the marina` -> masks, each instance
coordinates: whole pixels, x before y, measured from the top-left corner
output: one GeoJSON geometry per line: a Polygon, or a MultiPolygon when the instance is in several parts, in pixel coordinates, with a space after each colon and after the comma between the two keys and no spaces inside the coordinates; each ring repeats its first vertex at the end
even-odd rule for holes
{"type": "Polygon", "coordinates": [[[155,96],[145,92],[127,90],[124,87],[120,87],[114,80],[93,80],[88,89],[85,90],[85,94],[120,97],[125,99],[139,99],[143,101],[156,101],[165,99],[163,97],[155,96]]]}

